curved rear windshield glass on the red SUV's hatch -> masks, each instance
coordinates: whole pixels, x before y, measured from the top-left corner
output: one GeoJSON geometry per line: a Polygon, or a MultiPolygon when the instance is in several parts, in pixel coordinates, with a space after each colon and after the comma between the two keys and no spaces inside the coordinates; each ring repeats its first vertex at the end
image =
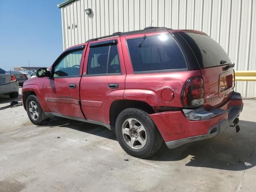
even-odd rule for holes
{"type": "Polygon", "coordinates": [[[212,38],[196,33],[180,33],[192,48],[200,68],[230,64],[225,50],[212,38]]]}

